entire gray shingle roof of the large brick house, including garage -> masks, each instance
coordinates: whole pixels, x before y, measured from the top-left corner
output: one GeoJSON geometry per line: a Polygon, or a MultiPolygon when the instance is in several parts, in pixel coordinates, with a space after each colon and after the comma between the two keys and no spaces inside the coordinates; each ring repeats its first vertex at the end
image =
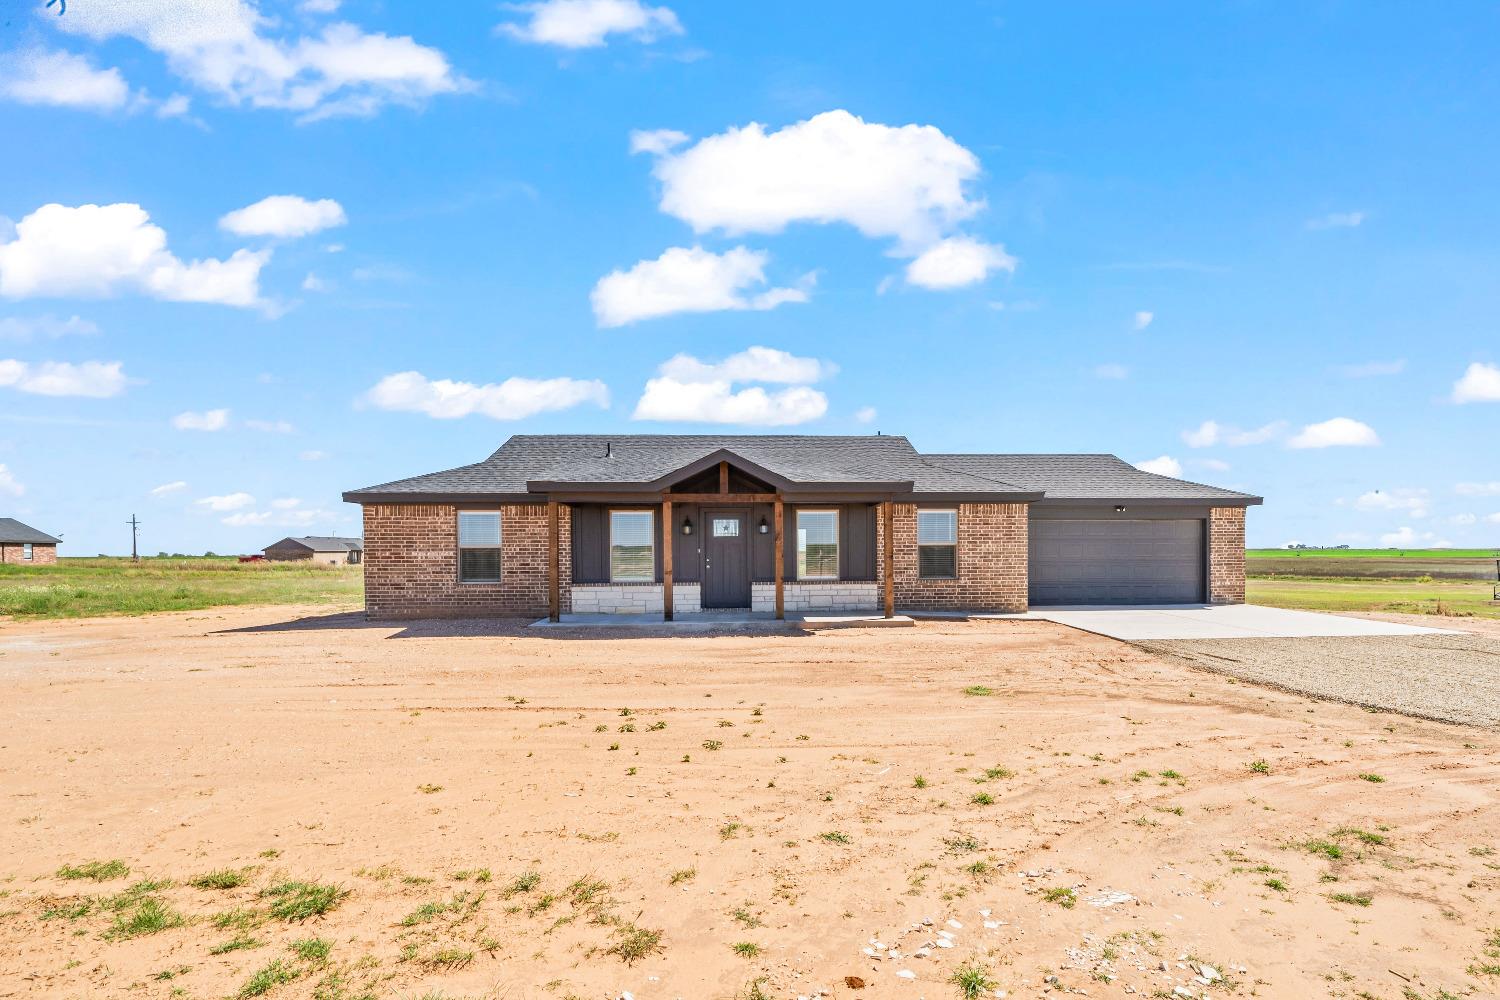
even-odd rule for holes
{"type": "Polygon", "coordinates": [[[801,486],[868,484],[872,490],[910,489],[915,495],[1017,499],[1046,493],[1047,499],[1258,501],[1142,472],[1110,454],[924,456],[898,435],[514,435],[483,462],[351,490],[344,499],[520,496],[528,484],[549,483],[636,489],[718,451],[801,486]]]}

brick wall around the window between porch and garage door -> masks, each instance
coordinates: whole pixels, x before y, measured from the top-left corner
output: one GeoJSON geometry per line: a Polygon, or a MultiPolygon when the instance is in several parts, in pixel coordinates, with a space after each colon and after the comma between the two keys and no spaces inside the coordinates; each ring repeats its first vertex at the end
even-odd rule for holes
{"type": "MultiPolygon", "coordinates": [[[[1026,610],[1026,504],[958,504],[958,577],[916,576],[916,504],[896,504],[896,607],[1026,610]]],[[[885,579],[885,516],[876,514],[876,579],[885,579]]],[[[882,597],[884,600],[884,597],[882,597]]]]}

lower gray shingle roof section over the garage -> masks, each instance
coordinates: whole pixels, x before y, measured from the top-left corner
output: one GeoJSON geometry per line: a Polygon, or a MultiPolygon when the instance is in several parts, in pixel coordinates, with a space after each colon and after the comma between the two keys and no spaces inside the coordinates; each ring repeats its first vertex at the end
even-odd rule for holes
{"type": "Polygon", "coordinates": [[[928,462],[1042,490],[1047,499],[1258,501],[1258,496],[1142,472],[1113,454],[928,454],[928,462]]]}

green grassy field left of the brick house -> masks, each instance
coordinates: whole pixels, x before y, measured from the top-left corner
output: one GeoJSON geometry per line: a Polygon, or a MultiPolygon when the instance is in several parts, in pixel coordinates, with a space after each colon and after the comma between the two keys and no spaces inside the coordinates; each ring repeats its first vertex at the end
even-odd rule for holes
{"type": "Polygon", "coordinates": [[[238,562],[232,558],[58,559],[0,565],[0,616],[86,618],[188,612],[226,604],[350,604],[360,567],[238,562]]]}

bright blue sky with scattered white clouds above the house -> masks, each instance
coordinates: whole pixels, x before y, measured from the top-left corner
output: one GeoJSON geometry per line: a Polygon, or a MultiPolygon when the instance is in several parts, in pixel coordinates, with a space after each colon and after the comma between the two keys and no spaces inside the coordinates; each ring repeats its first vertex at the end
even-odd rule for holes
{"type": "Polygon", "coordinates": [[[0,516],[902,433],[1500,544],[1500,7],[0,0],[0,516]]]}

